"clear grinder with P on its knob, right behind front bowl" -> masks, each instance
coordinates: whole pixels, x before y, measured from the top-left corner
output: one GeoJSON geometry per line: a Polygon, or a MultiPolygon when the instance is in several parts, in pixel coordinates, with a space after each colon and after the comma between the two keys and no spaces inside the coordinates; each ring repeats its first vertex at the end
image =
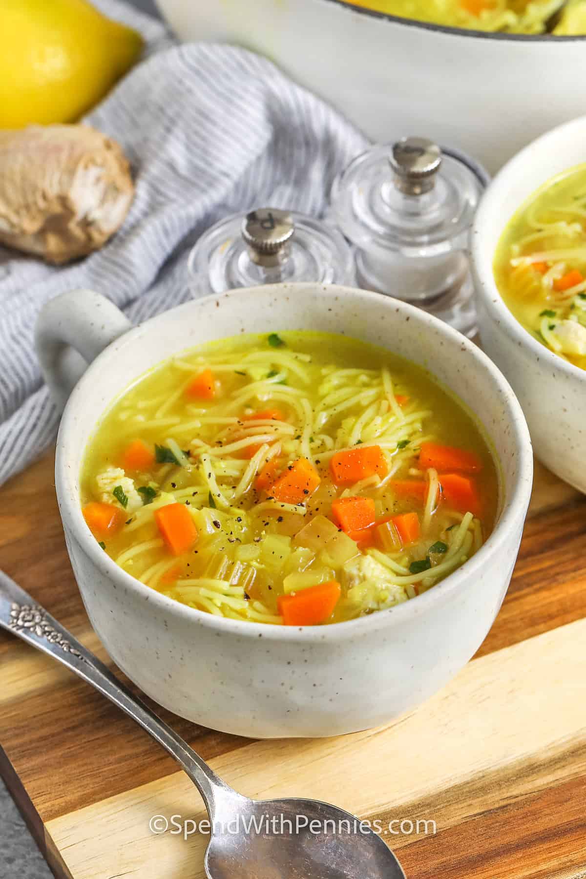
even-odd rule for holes
{"type": "Polygon", "coordinates": [[[194,295],[281,281],[355,283],[351,248],[337,229],[273,207],[217,222],[193,247],[188,269],[194,295]]]}

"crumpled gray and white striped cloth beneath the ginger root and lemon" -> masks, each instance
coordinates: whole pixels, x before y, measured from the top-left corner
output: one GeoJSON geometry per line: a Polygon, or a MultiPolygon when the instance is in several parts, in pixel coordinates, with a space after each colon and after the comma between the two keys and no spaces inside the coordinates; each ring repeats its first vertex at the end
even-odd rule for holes
{"type": "Polygon", "coordinates": [[[44,302],[77,287],[138,323],[186,301],[189,249],[213,222],[270,205],[321,214],[362,134],[270,62],[242,49],[176,46],[154,19],[96,3],[141,30],[145,59],[87,117],[122,144],[134,204],[111,242],[54,268],[0,249],[0,484],[54,440],[57,413],[33,348],[44,302]]]}

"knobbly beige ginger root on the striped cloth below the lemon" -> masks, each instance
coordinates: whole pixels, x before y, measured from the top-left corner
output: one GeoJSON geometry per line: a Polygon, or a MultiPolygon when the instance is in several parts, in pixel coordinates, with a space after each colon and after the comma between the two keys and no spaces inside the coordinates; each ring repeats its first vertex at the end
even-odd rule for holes
{"type": "Polygon", "coordinates": [[[69,262],[119,229],[133,197],[126,156],[95,128],[0,131],[0,243],[69,262]]]}

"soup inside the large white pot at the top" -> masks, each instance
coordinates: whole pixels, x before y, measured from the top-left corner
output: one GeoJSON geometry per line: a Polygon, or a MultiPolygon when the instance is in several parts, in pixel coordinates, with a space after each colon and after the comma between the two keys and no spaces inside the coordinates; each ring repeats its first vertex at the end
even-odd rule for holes
{"type": "MultiPolygon", "coordinates": [[[[586,0],[345,0],[387,15],[415,18],[435,25],[473,31],[544,33],[571,36],[586,33],[586,0]],[[561,8],[562,7],[562,8],[561,8]],[[546,26],[548,25],[548,26],[546,26]]],[[[511,48],[514,51],[514,48],[511,48]]]]}

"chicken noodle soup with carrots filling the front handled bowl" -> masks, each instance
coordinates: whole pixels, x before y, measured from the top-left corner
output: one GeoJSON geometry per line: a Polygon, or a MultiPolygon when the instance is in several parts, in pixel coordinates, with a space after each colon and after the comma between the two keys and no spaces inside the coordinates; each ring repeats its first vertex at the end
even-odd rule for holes
{"type": "Polygon", "coordinates": [[[227,339],[168,360],[90,442],[83,514],[142,583],[236,620],[351,620],[481,547],[496,470],[419,367],[341,336],[227,339]]]}

